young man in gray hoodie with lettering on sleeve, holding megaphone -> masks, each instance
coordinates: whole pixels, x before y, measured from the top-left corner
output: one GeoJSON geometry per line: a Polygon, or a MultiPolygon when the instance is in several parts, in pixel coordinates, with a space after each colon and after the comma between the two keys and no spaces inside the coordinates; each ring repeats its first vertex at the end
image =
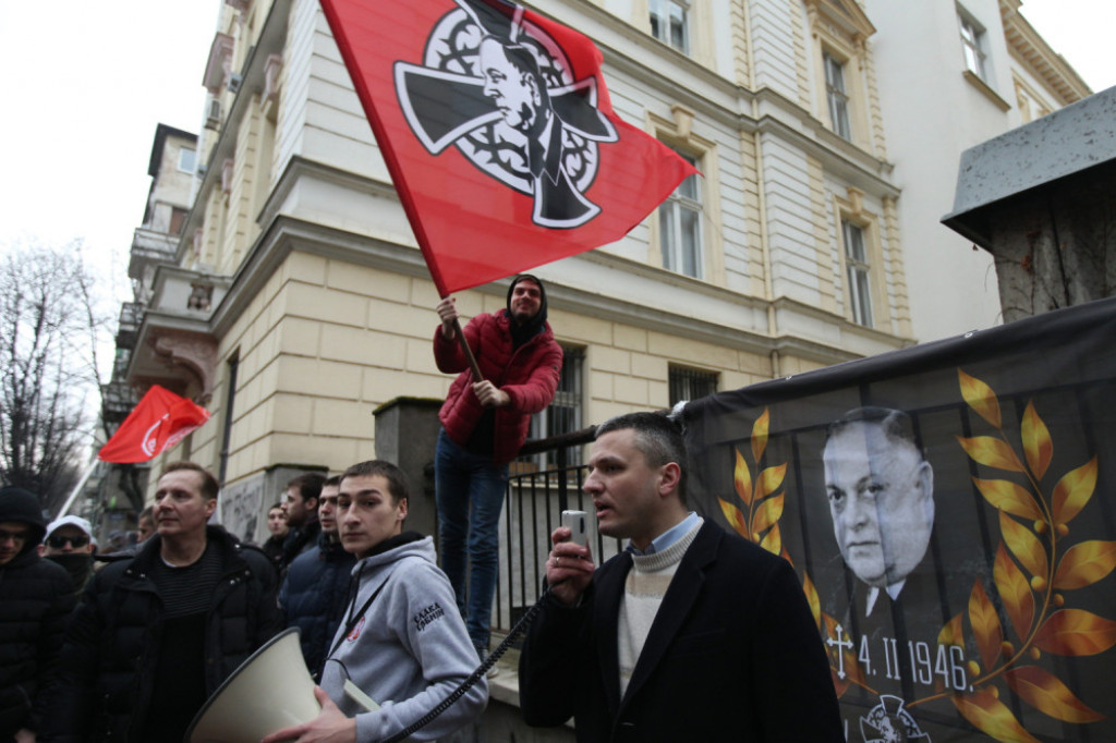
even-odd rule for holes
{"type": "MultiPolygon", "coordinates": [[[[315,689],[321,714],[262,743],[366,743],[389,737],[446,698],[477,665],[449,579],[430,537],[404,532],[407,481],[394,464],[373,460],[341,475],[337,522],[357,558],[356,590],[315,689]]],[[[483,677],[442,715],[407,740],[446,736],[488,703],[483,677]]]]}

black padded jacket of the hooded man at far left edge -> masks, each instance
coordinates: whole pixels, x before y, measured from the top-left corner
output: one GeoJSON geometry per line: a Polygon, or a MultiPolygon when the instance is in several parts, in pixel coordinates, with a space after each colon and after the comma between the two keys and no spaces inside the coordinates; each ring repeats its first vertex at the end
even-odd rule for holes
{"type": "Polygon", "coordinates": [[[69,576],[40,558],[33,540],[0,567],[0,741],[39,730],[76,600],[69,576]]]}

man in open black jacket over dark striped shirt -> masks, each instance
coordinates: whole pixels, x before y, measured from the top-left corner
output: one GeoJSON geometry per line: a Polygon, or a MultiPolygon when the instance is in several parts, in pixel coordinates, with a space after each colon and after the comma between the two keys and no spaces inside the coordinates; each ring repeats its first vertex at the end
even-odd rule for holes
{"type": "Polygon", "coordinates": [[[94,577],[67,630],[48,740],[179,743],[209,695],[279,630],[268,558],[206,525],[217,494],[198,464],[163,471],[156,535],[94,577]]]}

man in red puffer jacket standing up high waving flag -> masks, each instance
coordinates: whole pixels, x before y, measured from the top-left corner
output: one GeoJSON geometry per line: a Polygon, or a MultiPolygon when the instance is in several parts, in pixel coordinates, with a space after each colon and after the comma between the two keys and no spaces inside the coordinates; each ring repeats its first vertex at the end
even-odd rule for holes
{"type": "Polygon", "coordinates": [[[498,523],[508,463],[527,438],[530,416],[554,399],[561,346],[547,324],[547,295],[529,273],[512,279],[507,309],[478,315],[464,328],[482,380],[473,378],[456,337],[453,297],[437,305],[434,360],[458,374],[439,417],[434,459],[442,569],[450,577],[469,637],[482,658],[498,571],[498,523]],[[465,585],[465,576],[469,585],[465,585]]]}

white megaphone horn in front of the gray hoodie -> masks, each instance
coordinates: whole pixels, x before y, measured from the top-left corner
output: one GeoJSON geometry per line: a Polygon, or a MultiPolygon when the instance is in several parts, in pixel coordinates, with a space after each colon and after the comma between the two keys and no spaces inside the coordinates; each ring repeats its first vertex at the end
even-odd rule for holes
{"type": "Polygon", "coordinates": [[[298,629],[282,631],[240,664],[194,716],[185,743],[259,743],[321,712],[298,629]]]}

